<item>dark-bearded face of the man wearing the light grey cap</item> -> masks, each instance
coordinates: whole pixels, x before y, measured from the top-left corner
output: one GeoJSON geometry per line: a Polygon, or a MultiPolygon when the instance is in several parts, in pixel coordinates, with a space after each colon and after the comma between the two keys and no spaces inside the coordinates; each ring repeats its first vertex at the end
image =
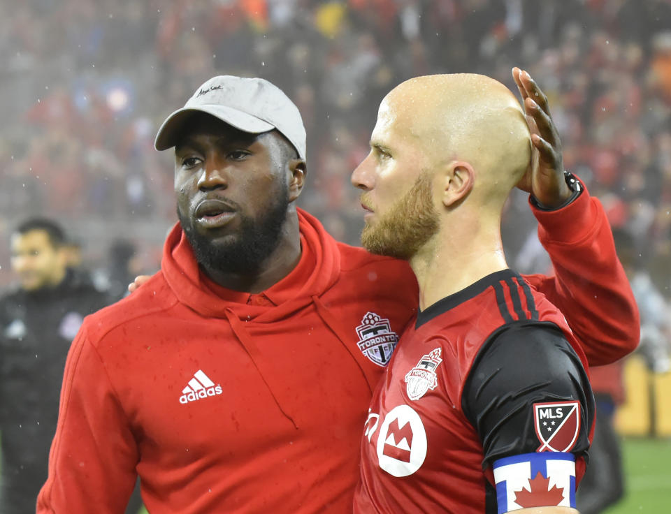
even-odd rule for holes
{"type": "Polygon", "coordinates": [[[175,147],[178,216],[210,279],[259,293],[294,269],[304,179],[305,162],[277,131],[245,133],[200,113],[185,122],[175,147]]]}

